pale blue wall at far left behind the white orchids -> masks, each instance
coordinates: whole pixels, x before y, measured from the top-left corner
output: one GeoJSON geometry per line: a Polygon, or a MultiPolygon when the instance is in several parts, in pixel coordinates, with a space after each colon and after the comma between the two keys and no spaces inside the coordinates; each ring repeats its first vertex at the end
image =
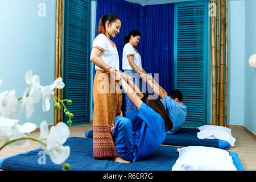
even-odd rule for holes
{"type": "MultiPolygon", "coordinates": [[[[22,97],[27,88],[24,75],[28,69],[40,77],[41,85],[52,84],[55,79],[55,20],[56,1],[0,1],[0,78],[3,78],[0,92],[15,89],[16,97],[22,97]],[[46,5],[46,16],[38,15],[42,9],[39,3],[46,5]]],[[[39,127],[44,119],[49,125],[54,123],[53,105],[46,113],[42,111],[42,101],[34,106],[36,110],[30,119],[26,119],[25,110],[20,118],[20,107],[17,108],[20,124],[33,122],[39,127]]]]}

